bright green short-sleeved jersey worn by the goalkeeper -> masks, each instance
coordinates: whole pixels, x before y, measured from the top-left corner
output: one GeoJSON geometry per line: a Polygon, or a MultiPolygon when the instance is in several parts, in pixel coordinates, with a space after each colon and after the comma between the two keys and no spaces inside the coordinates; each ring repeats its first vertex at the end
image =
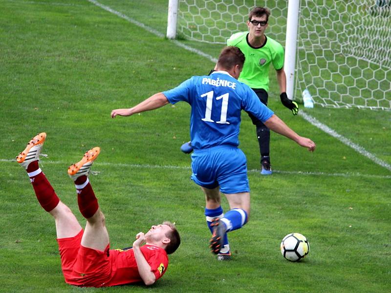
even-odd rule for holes
{"type": "Polygon", "coordinates": [[[276,70],[280,70],[284,66],[282,45],[271,38],[266,38],[261,47],[252,47],[248,42],[248,32],[233,34],[227,40],[227,45],[238,47],[246,57],[239,82],[247,84],[251,88],[263,88],[268,91],[270,63],[276,70]]]}

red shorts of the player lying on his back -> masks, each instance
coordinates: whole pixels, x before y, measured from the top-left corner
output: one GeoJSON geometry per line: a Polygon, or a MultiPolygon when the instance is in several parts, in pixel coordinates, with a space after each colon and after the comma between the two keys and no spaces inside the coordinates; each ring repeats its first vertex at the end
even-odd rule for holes
{"type": "Polygon", "coordinates": [[[76,286],[102,287],[109,281],[109,247],[98,251],[81,246],[83,229],[74,237],[57,239],[65,282],[76,286]]]}

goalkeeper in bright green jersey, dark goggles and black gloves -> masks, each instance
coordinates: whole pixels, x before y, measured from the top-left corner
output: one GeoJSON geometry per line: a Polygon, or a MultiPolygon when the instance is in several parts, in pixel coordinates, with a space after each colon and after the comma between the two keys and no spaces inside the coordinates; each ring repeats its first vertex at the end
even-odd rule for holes
{"type": "MultiPolygon", "coordinates": [[[[288,99],[286,95],[286,76],[283,68],[284,51],[282,45],[273,39],[265,36],[268,27],[270,10],[265,7],[254,8],[248,17],[248,32],[233,34],[228,40],[228,46],[239,47],[246,60],[243,70],[239,76],[239,82],[247,84],[255,91],[261,102],[267,106],[269,90],[269,68],[270,63],[277,71],[277,81],[280,86],[280,98],[282,105],[290,109],[293,115],[299,111],[296,102],[288,99]]],[[[270,130],[259,119],[248,113],[253,124],[257,128],[258,143],[261,152],[261,174],[270,175],[270,130]]],[[[183,152],[189,153],[193,150],[191,142],[181,146],[183,152]]]]}

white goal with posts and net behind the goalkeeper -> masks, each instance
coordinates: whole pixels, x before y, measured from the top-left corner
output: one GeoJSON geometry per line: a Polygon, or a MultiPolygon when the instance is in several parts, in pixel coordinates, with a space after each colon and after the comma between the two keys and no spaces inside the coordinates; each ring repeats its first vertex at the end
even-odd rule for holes
{"type": "Polygon", "coordinates": [[[222,45],[247,30],[252,8],[268,7],[266,35],[285,46],[290,98],[301,100],[308,89],[315,105],[391,109],[391,0],[171,2],[177,23],[168,24],[176,28],[168,38],[222,45]]]}

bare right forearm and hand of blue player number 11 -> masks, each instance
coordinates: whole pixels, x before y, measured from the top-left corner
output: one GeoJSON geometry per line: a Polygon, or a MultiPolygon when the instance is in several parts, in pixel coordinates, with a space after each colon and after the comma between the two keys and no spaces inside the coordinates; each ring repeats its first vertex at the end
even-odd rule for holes
{"type": "Polygon", "coordinates": [[[309,151],[314,151],[316,148],[315,143],[309,138],[300,136],[291,128],[289,128],[278,116],[274,115],[266,120],[264,123],[269,129],[290,138],[296,142],[299,146],[307,147],[309,151]]]}

